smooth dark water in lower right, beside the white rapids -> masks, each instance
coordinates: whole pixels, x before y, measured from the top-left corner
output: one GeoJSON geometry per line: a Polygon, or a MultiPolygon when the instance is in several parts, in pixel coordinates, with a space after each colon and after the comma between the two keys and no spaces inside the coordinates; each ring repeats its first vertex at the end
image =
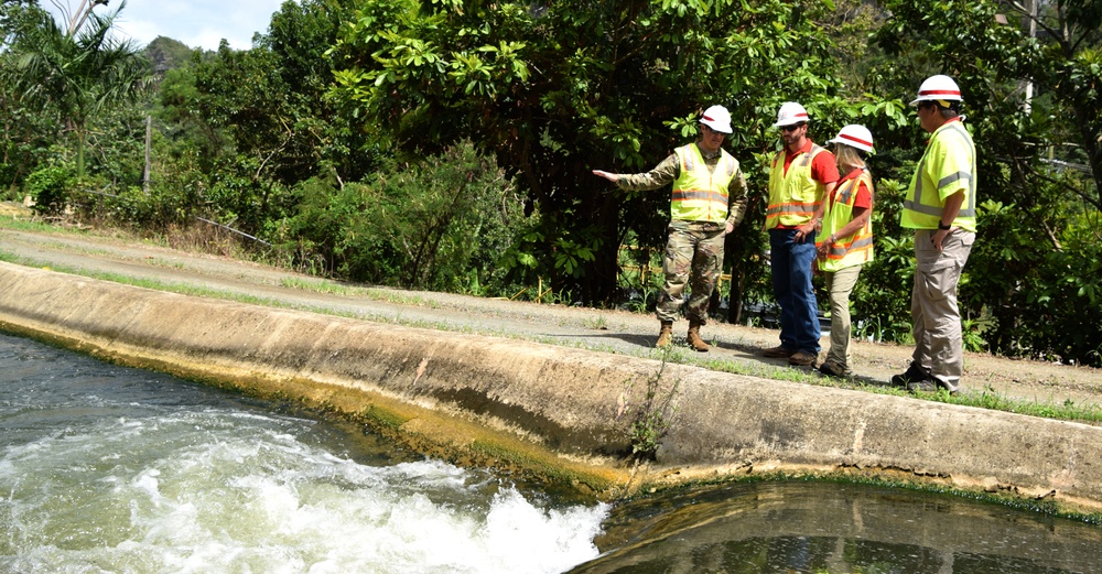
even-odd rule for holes
{"type": "Polygon", "coordinates": [[[954,497],[817,483],[685,490],[613,510],[574,573],[1102,572],[1102,529],[954,497]]]}

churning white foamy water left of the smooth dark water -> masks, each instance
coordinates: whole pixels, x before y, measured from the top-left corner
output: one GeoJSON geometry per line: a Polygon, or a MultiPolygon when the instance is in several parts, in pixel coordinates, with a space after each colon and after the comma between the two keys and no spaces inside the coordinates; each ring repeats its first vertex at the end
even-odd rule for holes
{"type": "Polygon", "coordinates": [[[365,464],[323,425],[0,336],[0,571],[551,573],[597,555],[604,505],[365,464]]]}

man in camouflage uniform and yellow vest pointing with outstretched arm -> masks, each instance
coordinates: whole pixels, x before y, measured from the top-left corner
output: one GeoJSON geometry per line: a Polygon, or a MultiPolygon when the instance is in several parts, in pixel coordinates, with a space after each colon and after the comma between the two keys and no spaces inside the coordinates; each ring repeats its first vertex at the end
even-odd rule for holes
{"type": "Polygon", "coordinates": [[[620,189],[658,189],[673,184],[670,198],[669,240],[662,270],[666,283],[658,300],[661,331],[658,347],[668,347],[673,322],[690,284],[689,345],[707,351],[700,327],[707,323],[707,303],[723,268],[723,238],[734,231],[746,212],[746,178],[738,161],[721,147],[731,133],[731,115],[723,106],[704,110],[700,119],[701,137],[678,148],[646,173],[619,174],[594,170],[593,173],[620,189]]]}

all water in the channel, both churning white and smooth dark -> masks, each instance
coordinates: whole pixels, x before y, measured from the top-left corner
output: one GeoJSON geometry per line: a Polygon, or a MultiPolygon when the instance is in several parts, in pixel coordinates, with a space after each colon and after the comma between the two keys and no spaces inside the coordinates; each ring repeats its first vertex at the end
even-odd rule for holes
{"type": "Polygon", "coordinates": [[[861,485],[611,507],[0,334],[0,573],[1102,573],[1102,529],[861,485]]]}

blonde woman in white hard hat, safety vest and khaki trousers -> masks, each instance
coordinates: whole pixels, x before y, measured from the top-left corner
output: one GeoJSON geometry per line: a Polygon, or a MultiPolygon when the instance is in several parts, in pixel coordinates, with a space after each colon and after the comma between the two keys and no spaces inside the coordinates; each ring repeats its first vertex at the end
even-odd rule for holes
{"type": "Polygon", "coordinates": [[[861,267],[873,260],[873,177],[864,160],[873,151],[873,134],[864,126],[846,126],[830,143],[844,175],[825,202],[815,236],[815,263],[827,278],[831,316],[830,350],[819,371],[844,377],[850,373],[850,293],[861,267]]]}

